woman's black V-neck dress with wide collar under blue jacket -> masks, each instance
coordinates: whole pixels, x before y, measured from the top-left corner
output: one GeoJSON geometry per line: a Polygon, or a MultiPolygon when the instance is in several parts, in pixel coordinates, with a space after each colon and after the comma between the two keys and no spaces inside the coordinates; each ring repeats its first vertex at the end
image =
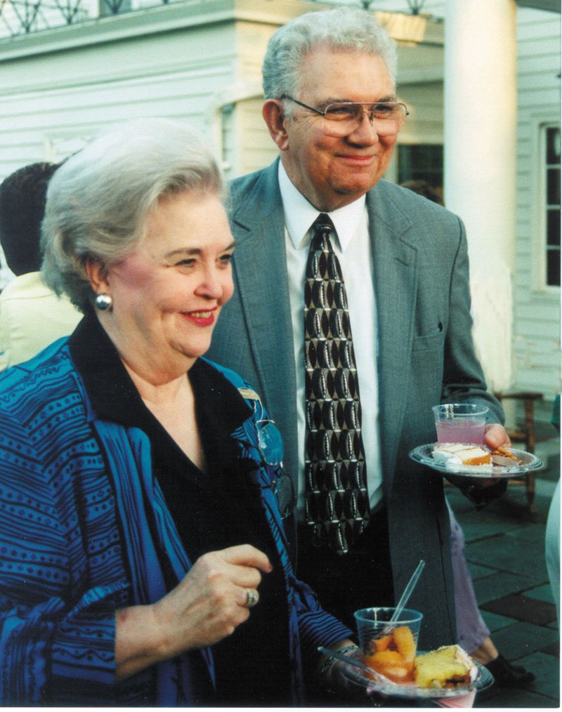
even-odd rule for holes
{"type": "MultiPolygon", "coordinates": [[[[88,314],[80,322],[70,347],[98,416],[140,428],[149,437],[153,471],[192,563],[209,551],[249,543],[266,553],[274,566],[263,575],[260,601],[248,621],[213,646],[216,691],[203,688],[200,705],[291,706],[281,562],[256,493],[246,484],[244,463],[229,437],[248,417],[244,399],[204,360],[198,359],[189,370],[207,459],[207,473],[202,473],[145,406],[95,315],[88,314]]],[[[164,551],[161,556],[171,590],[177,580],[164,551]]],[[[202,664],[201,656],[193,658],[202,664]]]]}

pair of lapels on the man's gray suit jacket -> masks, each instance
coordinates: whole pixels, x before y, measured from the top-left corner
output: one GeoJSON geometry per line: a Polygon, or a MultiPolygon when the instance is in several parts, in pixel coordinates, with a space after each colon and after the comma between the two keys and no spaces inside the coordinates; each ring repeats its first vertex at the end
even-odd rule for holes
{"type": "MultiPolygon", "coordinates": [[[[412,223],[384,181],[368,194],[367,206],[378,309],[381,451],[388,478],[394,472],[407,406],[404,379],[414,335],[417,249],[405,238],[412,223]]],[[[261,173],[232,222],[235,271],[244,274],[244,280],[236,281],[236,290],[256,364],[256,389],[285,433],[287,470],[296,471],[296,373],[277,162],[261,173]]]]}

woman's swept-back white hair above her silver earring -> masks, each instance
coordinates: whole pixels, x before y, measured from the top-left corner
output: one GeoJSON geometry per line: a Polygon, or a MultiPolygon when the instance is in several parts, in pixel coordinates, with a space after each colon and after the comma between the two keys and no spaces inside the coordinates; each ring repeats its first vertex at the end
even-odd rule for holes
{"type": "Polygon", "coordinates": [[[137,119],[63,162],[48,186],[41,246],[43,280],[80,310],[95,295],[88,258],[119,261],[142,239],[157,201],[189,191],[224,199],[222,173],[201,134],[183,122],[137,119]]]}

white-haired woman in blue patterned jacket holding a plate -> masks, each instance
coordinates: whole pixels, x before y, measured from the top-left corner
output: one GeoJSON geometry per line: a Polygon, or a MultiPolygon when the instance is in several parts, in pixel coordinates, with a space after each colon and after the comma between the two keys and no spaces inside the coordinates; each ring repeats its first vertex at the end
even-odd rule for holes
{"type": "Polygon", "coordinates": [[[317,649],[350,631],[293,576],[279,432],[202,358],[233,290],[223,193],[168,120],[49,185],[43,278],[84,317],[0,377],[4,705],[287,706],[337,675],[317,649]]]}

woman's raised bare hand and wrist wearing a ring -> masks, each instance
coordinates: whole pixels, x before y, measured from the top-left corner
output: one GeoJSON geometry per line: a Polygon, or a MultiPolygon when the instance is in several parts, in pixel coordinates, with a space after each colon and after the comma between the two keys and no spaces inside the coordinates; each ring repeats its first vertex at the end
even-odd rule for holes
{"type": "Polygon", "coordinates": [[[115,618],[115,663],[124,679],[184,650],[231,635],[246,621],[248,591],[257,595],[268,557],[249,544],[199,557],[184,579],[152,605],[121,609],[115,618]]]}

